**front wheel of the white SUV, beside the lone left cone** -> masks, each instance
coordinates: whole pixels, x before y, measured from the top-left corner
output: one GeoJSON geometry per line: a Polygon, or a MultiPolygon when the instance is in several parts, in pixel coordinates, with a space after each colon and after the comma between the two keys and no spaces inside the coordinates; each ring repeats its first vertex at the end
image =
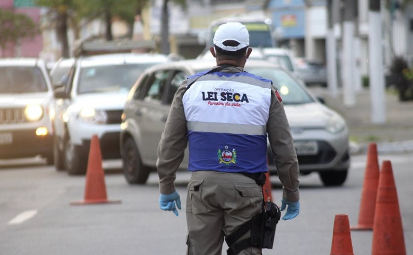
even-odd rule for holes
{"type": "Polygon", "coordinates": [[[84,175],[88,168],[88,155],[81,152],[80,148],[72,144],[70,137],[64,143],[64,163],[69,175],[84,175]]]}

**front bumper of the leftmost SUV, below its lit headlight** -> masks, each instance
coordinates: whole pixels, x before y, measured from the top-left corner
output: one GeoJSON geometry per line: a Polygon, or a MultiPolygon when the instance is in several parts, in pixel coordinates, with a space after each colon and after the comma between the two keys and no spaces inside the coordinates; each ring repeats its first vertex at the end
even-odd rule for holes
{"type": "Polygon", "coordinates": [[[36,129],[0,130],[0,134],[11,134],[11,142],[0,143],[0,158],[32,157],[53,153],[53,136],[36,135],[36,129]]]}

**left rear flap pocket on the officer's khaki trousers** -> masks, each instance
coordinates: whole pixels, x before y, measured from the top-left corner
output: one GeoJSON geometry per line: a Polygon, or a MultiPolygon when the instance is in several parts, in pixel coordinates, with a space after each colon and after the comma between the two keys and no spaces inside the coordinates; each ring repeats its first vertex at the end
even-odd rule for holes
{"type": "Polygon", "coordinates": [[[194,214],[207,212],[207,206],[203,203],[202,184],[204,180],[192,180],[188,183],[188,197],[186,199],[186,212],[194,214]]]}

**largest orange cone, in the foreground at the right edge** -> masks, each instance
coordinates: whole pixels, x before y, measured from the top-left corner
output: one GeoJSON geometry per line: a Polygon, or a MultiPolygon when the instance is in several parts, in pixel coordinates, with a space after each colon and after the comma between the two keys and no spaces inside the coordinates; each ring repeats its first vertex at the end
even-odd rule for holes
{"type": "Polygon", "coordinates": [[[406,255],[402,218],[391,162],[384,160],[377,189],[372,255],[406,255]]]}

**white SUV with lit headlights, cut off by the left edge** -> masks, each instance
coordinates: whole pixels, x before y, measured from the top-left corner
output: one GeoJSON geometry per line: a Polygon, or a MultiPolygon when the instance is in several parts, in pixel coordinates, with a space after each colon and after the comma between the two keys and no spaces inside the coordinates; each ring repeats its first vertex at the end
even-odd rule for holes
{"type": "Polygon", "coordinates": [[[53,164],[52,85],[37,58],[0,59],[0,158],[41,155],[53,164]]]}

